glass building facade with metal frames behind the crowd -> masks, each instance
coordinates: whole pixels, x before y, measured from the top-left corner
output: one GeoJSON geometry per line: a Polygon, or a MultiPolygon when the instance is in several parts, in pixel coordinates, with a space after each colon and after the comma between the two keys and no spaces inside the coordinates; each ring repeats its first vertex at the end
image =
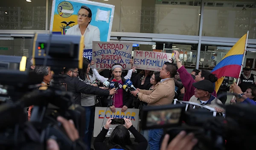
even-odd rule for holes
{"type": "MultiPolygon", "coordinates": [[[[143,51],[180,51],[186,68],[211,70],[249,31],[244,65],[256,68],[255,0],[92,0],[115,6],[111,41],[143,51]],[[121,37],[118,39],[117,37],[121,37]]],[[[34,33],[49,33],[52,0],[0,5],[0,54],[28,56],[34,33]]]]}

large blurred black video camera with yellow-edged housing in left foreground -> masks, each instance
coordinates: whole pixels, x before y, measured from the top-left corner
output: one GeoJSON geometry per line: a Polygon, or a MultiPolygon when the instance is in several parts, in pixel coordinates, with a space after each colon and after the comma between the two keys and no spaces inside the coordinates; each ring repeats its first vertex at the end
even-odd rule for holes
{"type": "MultiPolygon", "coordinates": [[[[82,68],[83,41],[83,36],[35,34],[32,47],[34,65],[50,66],[55,73],[51,86],[44,90],[34,89],[43,76],[24,69],[0,70],[0,84],[7,85],[10,96],[9,102],[0,105],[1,150],[45,150],[50,138],[56,140],[60,150],[86,149],[81,140],[72,142],[56,119],[57,116],[73,119],[79,136],[83,137],[84,108],[73,103],[72,93],[61,86],[60,79],[64,76],[58,74],[63,67],[82,68]],[[28,122],[24,108],[31,105],[34,107],[28,122]]],[[[21,62],[22,68],[24,61],[21,62]]]]}

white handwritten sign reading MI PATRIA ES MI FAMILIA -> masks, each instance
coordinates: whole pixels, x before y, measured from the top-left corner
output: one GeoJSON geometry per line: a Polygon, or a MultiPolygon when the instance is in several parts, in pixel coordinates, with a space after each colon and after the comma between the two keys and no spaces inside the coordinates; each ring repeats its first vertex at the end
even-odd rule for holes
{"type": "Polygon", "coordinates": [[[134,50],[134,66],[137,69],[160,71],[171,58],[172,53],[134,50]]]}

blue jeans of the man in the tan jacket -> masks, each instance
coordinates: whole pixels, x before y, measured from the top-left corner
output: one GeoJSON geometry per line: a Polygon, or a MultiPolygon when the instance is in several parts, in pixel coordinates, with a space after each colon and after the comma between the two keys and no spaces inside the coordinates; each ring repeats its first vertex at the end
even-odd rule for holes
{"type": "Polygon", "coordinates": [[[148,130],[148,144],[150,150],[160,150],[163,139],[163,129],[148,130]]]}

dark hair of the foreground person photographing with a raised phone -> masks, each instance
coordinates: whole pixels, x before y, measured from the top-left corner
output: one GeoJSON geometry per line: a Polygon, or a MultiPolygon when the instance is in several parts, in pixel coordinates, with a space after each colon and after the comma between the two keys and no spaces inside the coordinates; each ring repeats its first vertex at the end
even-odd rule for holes
{"type": "Polygon", "coordinates": [[[125,150],[131,150],[129,148],[129,145],[131,144],[132,143],[130,140],[130,133],[128,129],[123,125],[116,126],[108,140],[109,149],[122,148],[125,150]],[[116,145],[119,145],[121,147],[116,147],[116,145]]]}

